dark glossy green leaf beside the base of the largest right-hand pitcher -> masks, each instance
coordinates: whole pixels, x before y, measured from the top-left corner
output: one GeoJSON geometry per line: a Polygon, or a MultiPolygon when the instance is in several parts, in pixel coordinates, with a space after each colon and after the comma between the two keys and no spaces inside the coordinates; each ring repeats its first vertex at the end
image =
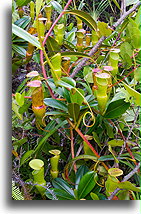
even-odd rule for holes
{"type": "Polygon", "coordinates": [[[126,112],[130,103],[124,101],[124,99],[116,100],[108,105],[108,108],[104,114],[105,118],[114,119],[126,112]]]}

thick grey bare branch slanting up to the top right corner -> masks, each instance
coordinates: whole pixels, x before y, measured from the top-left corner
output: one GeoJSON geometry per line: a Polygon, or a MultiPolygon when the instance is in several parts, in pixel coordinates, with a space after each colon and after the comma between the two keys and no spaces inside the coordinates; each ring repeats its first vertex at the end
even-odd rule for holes
{"type": "MultiPolygon", "coordinates": [[[[131,14],[134,10],[136,10],[137,7],[139,7],[141,5],[141,2],[138,2],[137,4],[135,4],[130,10],[128,10],[127,12],[125,12],[123,14],[123,16],[121,16],[121,18],[112,26],[113,29],[116,29],[116,27],[118,27],[122,21],[129,15],[131,14]]],[[[102,42],[106,39],[107,37],[102,36],[99,41],[96,43],[96,45],[91,49],[91,51],[88,53],[89,56],[92,56],[97,50],[98,48],[101,46],[102,42]]],[[[77,65],[77,67],[74,69],[73,73],[70,75],[70,77],[74,77],[78,71],[81,70],[81,68],[85,65],[85,63],[89,60],[89,58],[83,58],[82,60],[80,60],[79,64],[77,65]]]]}

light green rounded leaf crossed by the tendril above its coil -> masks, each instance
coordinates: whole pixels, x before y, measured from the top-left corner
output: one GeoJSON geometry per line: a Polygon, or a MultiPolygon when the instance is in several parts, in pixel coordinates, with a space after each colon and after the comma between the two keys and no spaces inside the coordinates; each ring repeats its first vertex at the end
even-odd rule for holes
{"type": "MultiPolygon", "coordinates": [[[[77,90],[82,94],[82,96],[84,96],[84,91],[82,89],[78,88],[77,90]]],[[[84,101],[84,98],[80,95],[80,93],[77,90],[75,90],[75,88],[71,89],[70,99],[72,103],[77,103],[78,105],[81,106],[84,101]]]]}

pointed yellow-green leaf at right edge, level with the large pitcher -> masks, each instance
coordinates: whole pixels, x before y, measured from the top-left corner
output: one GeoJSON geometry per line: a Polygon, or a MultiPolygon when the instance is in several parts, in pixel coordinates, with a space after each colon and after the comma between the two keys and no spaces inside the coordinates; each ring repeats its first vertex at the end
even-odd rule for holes
{"type": "Polygon", "coordinates": [[[141,94],[124,82],[123,82],[123,85],[124,85],[125,89],[128,91],[128,93],[132,97],[134,97],[136,105],[141,106],[141,94]]]}

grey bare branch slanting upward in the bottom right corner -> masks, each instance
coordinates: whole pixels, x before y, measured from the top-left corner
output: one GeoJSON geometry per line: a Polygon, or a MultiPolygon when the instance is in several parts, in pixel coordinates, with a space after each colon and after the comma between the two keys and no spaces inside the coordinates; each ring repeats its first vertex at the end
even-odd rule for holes
{"type": "MultiPolygon", "coordinates": [[[[127,180],[129,180],[129,178],[131,178],[140,168],[140,163],[126,176],[124,176],[123,180],[121,182],[125,182],[127,180]]],[[[112,192],[112,194],[108,197],[108,200],[112,200],[112,198],[118,193],[118,191],[120,190],[120,188],[115,189],[114,192],[112,192]]]]}

